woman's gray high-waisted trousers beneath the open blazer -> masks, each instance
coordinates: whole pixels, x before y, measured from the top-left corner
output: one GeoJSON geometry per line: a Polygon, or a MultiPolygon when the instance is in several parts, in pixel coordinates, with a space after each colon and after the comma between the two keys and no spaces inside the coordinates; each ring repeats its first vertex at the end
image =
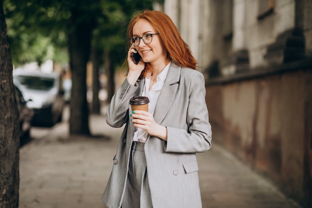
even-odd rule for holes
{"type": "Polygon", "coordinates": [[[122,208],[153,208],[144,145],[142,142],[132,144],[122,208]]]}

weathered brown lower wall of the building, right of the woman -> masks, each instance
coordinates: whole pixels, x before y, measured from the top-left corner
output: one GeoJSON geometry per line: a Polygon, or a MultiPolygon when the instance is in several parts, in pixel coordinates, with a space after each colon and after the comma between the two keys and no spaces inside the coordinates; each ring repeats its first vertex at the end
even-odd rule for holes
{"type": "Polygon", "coordinates": [[[213,141],[268,176],[283,192],[307,201],[312,118],[306,114],[312,108],[311,93],[311,71],[208,86],[213,141]]]}

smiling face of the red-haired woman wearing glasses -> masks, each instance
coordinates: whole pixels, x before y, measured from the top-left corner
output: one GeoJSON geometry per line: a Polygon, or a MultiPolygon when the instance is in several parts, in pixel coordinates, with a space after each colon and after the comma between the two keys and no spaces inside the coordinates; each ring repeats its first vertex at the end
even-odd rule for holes
{"type": "MultiPolygon", "coordinates": [[[[133,27],[133,35],[142,37],[147,33],[154,34],[157,32],[150,22],[140,19],[133,27]]],[[[152,42],[149,44],[146,44],[141,38],[136,50],[142,56],[143,61],[150,62],[152,66],[166,64],[167,62],[164,46],[158,34],[153,35],[152,42]]]]}

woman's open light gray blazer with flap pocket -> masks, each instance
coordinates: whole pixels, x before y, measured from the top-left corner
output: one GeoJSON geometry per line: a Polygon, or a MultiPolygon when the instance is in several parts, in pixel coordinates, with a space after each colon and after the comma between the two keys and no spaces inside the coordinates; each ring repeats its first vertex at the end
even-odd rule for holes
{"type": "MultiPolygon", "coordinates": [[[[130,122],[129,100],[141,95],[145,80],[135,86],[125,79],[107,109],[106,121],[122,127],[114,165],[102,201],[120,208],[125,191],[135,128],[130,122]]],[[[159,94],[154,119],[167,127],[167,141],[148,136],[145,144],[153,208],[201,208],[196,153],[211,147],[211,126],[202,73],[171,63],[159,94]]]]}

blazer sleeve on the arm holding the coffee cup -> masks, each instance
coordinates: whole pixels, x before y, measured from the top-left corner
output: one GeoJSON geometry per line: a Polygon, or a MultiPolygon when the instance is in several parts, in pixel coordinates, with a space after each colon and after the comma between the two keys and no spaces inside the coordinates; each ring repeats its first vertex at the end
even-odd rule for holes
{"type": "Polygon", "coordinates": [[[189,82],[189,103],[184,109],[188,129],[167,127],[166,152],[196,153],[210,149],[212,132],[205,96],[204,76],[196,71],[189,82]]]}

